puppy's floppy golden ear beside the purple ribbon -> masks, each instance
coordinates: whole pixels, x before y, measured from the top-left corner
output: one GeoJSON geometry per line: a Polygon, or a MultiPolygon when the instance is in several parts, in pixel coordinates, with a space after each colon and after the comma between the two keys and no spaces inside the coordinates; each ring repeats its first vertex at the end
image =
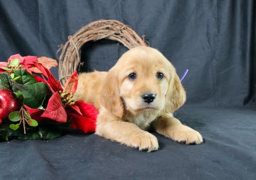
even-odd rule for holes
{"type": "Polygon", "coordinates": [[[169,81],[169,87],[165,96],[165,113],[173,113],[180,108],[186,101],[186,92],[183,88],[179,76],[176,71],[173,71],[173,75],[169,81]]]}

